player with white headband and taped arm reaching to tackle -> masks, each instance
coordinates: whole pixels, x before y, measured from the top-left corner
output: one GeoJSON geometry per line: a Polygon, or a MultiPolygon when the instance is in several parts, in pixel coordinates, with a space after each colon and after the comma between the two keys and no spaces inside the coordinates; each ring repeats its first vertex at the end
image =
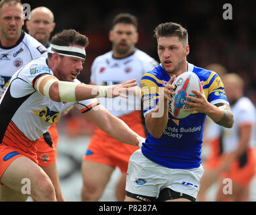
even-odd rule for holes
{"type": "Polygon", "coordinates": [[[36,58],[19,69],[0,99],[1,201],[25,201],[28,195],[35,201],[56,201],[52,181],[37,165],[35,144],[72,105],[114,138],[136,146],[144,141],[95,99],[127,97],[124,93],[136,86],[135,80],[108,87],[80,83],[87,37],[64,30],[51,43],[48,58],[36,58]],[[30,182],[25,191],[24,179],[30,182]]]}

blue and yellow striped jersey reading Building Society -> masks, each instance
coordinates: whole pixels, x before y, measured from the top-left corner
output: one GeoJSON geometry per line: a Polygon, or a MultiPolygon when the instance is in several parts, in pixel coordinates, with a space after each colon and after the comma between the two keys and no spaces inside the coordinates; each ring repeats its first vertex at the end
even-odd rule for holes
{"type": "MultiPolygon", "coordinates": [[[[224,86],[214,71],[195,67],[188,63],[188,71],[198,75],[204,93],[212,104],[228,103],[224,86]]],[[[171,77],[161,64],[146,73],[141,80],[144,116],[150,113],[157,102],[159,94],[171,77]]],[[[157,116],[157,115],[156,115],[157,116]]],[[[148,132],[142,146],[142,153],[151,161],[172,169],[192,169],[200,167],[202,151],[202,134],[206,114],[193,112],[183,119],[177,119],[170,113],[167,126],[160,138],[148,132]]]]}

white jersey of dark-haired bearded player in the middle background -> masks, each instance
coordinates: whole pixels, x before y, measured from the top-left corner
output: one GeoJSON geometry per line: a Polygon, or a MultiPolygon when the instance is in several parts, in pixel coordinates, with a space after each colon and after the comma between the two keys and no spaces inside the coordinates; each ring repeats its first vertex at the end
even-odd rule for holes
{"type": "MultiPolygon", "coordinates": [[[[157,64],[151,56],[138,49],[126,58],[114,58],[113,51],[110,51],[98,56],[93,61],[91,81],[95,85],[115,85],[136,79],[138,86],[140,86],[142,75],[151,71],[157,64]]],[[[128,99],[123,97],[99,98],[99,103],[116,117],[141,110],[140,98],[134,97],[133,93],[128,95],[128,99]]]]}

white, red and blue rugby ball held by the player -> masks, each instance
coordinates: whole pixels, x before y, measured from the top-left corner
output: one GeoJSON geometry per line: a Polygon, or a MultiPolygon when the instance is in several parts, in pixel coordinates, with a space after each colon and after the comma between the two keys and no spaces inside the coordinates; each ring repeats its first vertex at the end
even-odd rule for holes
{"type": "Polygon", "coordinates": [[[185,108],[190,107],[184,103],[184,101],[189,101],[186,95],[195,96],[192,89],[201,91],[202,85],[200,79],[195,73],[185,72],[176,77],[172,85],[175,86],[175,95],[169,95],[172,98],[172,101],[168,102],[169,112],[175,118],[185,118],[193,112],[184,111],[185,108]]]}

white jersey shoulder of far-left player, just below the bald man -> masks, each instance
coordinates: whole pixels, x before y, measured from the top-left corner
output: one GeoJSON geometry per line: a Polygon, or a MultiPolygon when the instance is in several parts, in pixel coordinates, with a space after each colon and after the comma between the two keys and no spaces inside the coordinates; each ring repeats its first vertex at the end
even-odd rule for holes
{"type": "Polygon", "coordinates": [[[47,49],[40,42],[38,42],[38,40],[36,40],[26,32],[22,42],[24,42],[26,47],[31,52],[36,52],[36,53],[38,52],[38,54],[44,54],[44,52],[47,52],[47,49]]]}

